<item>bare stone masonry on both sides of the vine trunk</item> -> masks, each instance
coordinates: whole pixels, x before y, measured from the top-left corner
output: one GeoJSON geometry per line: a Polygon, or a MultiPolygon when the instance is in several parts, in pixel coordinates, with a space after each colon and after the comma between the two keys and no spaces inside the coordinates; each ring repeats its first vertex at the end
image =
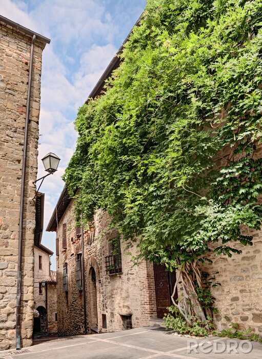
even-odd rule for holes
{"type": "MultiPolygon", "coordinates": [[[[57,258],[58,293],[58,334],[73,335],[84,333],[83,293],[76,289],[75,263],[77,253],[81,253],[80,238],[75,235],[73,200],[59,221],[57,237],[59,251],[57,258]],[[67,246],[62,247],[63,224],[67,224],[67,246]],[[63,289],[63,265],[68,265],[68,292],[63,289]]],[[[86,278],[86,308],[88,330],[98,332],[119,331],[123,329],[122,315],[132,315],[132,326],[150,325],[150,318],[156,317],[156,298],[153,266],[142,263],[132,266],[131,255],[136,247],[125,248],[121,242],[122,273],[110,275],[106,272],[105,256],[109,254],[110,232],[103,230],[108,225],[108,217],[103,211],[94,216],[94,227],[85,231],[84,261],[86,278]],[[92,281],[95,271],[95,285],[92,281]],[[106,320],[103,326],[103,318],[106,320]]],[[[243,232],[245,228],[243,228],[243,232]]],[[[262,332],[262,232],[249,231],[254,236],[253,246],[245,247],[238,243],[232,246],[240,249],[241,254],[210,256],[213,264],[206,264],[203,271],[210,276],[215,274],[221,284],[212,288],[216,298],[215,323],[219,330],[228,328],[235,322],[239,328],[249,328],[262,332]]]]}

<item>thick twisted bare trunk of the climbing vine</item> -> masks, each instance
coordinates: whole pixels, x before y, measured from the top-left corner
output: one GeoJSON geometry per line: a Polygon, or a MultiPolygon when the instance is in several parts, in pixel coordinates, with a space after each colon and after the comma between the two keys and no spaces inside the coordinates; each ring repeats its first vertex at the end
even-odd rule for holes
{"type": "Polygon", "coordinates": [[[189,325],[191,324],[191,316],[198,317],[202,322],[206,321],[204,309],[197,298],[195,283],[197,283],[199,288],[203,288],[197,262],[187,263],[176,270],[176,283],[171,300],[189,325]],[[177,301],[174,300],[176,290],[178,292],[177,301]]]}

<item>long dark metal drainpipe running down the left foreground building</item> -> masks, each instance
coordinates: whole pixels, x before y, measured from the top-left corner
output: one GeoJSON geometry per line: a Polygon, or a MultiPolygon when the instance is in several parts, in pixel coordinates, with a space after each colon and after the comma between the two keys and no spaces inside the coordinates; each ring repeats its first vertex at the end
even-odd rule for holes
{"type": "Polygon", "coordinates": [[[33,55],[34,55],[35,38],[36,38],[36,36],[33,35],[32,43],[31,43],[30,65],[29,65],[29,80],[28,80],[27,107],[26,107],[26,125],[25,125],[23,166],[22,166],[22,181],[21,181],[21,194],[20,194],[17,284],[16,284],[16,286],[17,286],[17,288],[16,288],[16,321],[15,321],[16,350],[21,349],[20,317],[21,317],[21,278],[22,278],[23,221],[24,221],[24,200],[25,200],[27,142],[28,142],[28,128],[29,128],[29,114],[30,114],[31,84],[32,84],[32,70],[33,70],[33,55]]]}

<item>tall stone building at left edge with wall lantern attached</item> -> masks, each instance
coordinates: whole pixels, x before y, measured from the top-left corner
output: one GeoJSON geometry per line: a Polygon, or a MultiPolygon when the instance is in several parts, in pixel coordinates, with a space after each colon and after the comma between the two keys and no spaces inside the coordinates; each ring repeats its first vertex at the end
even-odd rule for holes
{"type": "Polygon", "coordinates": [[[48,38],[0,16],[0,350],[13,348],[15,343],[18,347],[32,344],[33,182],[37,174],[42,51],[49,42],[48,38]],[[19,223],[23,230],[19,230],[19,223]],[[22,263],[22,294],[21,315],[18,313],[17,319],[18,257],[22,263]]]}

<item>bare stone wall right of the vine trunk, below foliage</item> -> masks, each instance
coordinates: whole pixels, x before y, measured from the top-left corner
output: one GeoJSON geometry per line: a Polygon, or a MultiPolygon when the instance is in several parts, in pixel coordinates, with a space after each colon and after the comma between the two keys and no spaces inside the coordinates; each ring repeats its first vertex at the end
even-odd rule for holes
{"type": "Polygon", "coordinates": [[[213,264],[206,264],[203,270],[212,275],[220,286],[212,288],[216,298],[215,315],[217,328],[238,323],[239,328],[250,328],[257,334],[262,333],[262,233],[249,231],[254,235],[253,246],[232,244],[241,250],[241,254],[227,256],[210,256],[213,264]]]}

